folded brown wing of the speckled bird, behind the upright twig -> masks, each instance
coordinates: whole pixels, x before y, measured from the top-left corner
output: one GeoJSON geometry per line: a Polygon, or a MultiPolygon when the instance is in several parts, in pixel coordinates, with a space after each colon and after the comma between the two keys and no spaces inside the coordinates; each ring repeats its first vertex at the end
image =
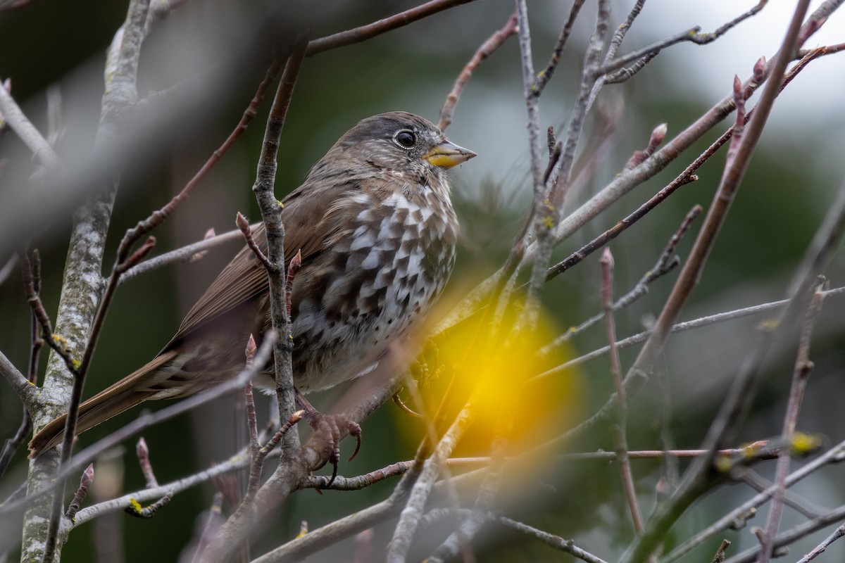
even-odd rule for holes
{"type": "MultiPolygon", "coordinates": [[[[353,187],[352,184],[324,187],[306,182],[285,198],[281,213],[285,225],[285,266],[297,251],[303,253],[303,267],[322,251],[325,241],[340,229],[338,221],[326,220],[331,203],[353,187]]],[[[263,224],[254,230],[253,238],[259,247],[267,252],[267,236],[263,224]]],[[[243,246],[232,258],[232,262],[226,264],[226,268],[223,268],[209,289],[205,290],[204,295],[191,307],[165,349],[169,349],[172,344],[210,320],[264,293],[267,287],[267,272],[264,266],[248,246],[243,246]]]]}

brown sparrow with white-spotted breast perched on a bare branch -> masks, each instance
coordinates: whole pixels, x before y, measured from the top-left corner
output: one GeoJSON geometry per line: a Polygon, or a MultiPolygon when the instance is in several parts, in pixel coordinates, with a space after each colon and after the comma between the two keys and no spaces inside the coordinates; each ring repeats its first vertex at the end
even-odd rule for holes
{"type": "MultiPolygon", "coordinates": [[[[372,371],[431,309],[455,263],[446,170],[475,155],[420,116],[383,113],[346,132],[285,198],[286,262],[302,252],[291,296],[300,392],[372,371]]],[[[254,239],[266,248],[263,225],[254,239]]],[[[269,310],[267,273],[244,246],[159,355],[80,405],[77,431],[142,401],[188,397],[236,376],[249,335],[260,342],[270,329],[269,310]]],[[[271,365],[256,379],[275,389],[271,365]]],[[[35,435],[30,457],[61,440],[64,419],[35,435]]]]}

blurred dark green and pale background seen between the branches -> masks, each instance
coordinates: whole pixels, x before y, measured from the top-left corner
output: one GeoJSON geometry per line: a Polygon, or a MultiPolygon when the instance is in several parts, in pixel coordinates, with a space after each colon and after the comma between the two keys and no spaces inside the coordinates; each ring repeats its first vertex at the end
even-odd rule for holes
{"type": "MultiPolygon", "coordinates": [[[[624,21],[631,4],[613,3],[613,26],[624,21]]],[[[598,143],[595,158],[598,165],[587,170],[584,181],[568,195],[567,211],[612,181],[633,151],[646,147],[651,130],[659,123],[668,123],[668,138],[673,137],[730,93],[735,74],[742,79],[748,78],[758,57],[771,58],[782,41],[793,4],[771,3],[760,14],[710,45],[684,43],[672,46],[629,82],[606,86],[580,144],[584,149],[591,138],[602,141],[598,143]],[[611,133],[602,138],[601,132],[607,131],[607,127],[611,133]]],[[[811,9],[818,4],[820,2],[812,3],[811,9]]],[[[367,8],[353,9],[343,3],[326,3],[322,12],[309,13],[308,21],[316,37],[367,24],[414,5],[411,2],[372,2],[367,8]]],[[[755,2],[747,0],[711,0],[707,3],[649,0],[620,52],[646,46],[695,25],[701,25],[703,31],[716,30],[754,5],[755,2]]],[[[51,96],[58,100],[57,131],[60,134],[56,148],[72,168],[90,159],[100,112],[105,51],[123,23],[127,6],[126,2],[95,0],[75,3],[33,0],[0,14],[0,37],[3,38],[0,78],[11,78],[12,94],[43,132],[49,128],[47,100],[51,96]]],[[[171,111],[166,113],[166,127],[160,129],[152,142],[144,145],[144,151],[125,166],[110,229],[111,250],[106,253],[106,273],[123,232],[182,189],[226,138],[248,105],[270,61],[271,41],[262,43],[255,39],[259,37],[264,41],[272,35],[266,30],[266,22],[262,23],[264,8],[264,4],[232,6],[223,2],[188,2],[158,24],[144,44],[139,95],[143,97],[179,84],[189,93],[188,100],[196,95],[202,103],[192,106],[184,100],[176,100],[168,106],[165,100],[164,105],[171,111]],[[244,53],[248,54],[249,49],[255,49],[255,53],[247,57],[249,63],[240,64],[233,70],[232,65],[243,62],[244,53]]],[[[513,4],[504,0],[468,3],[369,41],[306,59],[281,138],[276,178],[279,197],[297,187],[309,167],[331,144],[365,116],[405,110],[436,122],[445,96],[461,68],[477,47],[505,23],[513,9],[513,4]]],[[[569,9],[570,2],[541,0],[529,3],[537,70],[548,61],[569,9]]],[[[542,96],[542,127],[553,125],[557,131],[565,131],[595,9],[594,3],[587,3],[575,24],[562,62],[542,96]]],[[[842,35],[845,14],[841,12],[833,14],[805,46],[845,41],[845,35],[842,35]]],[[[292,14],[293,18],[306,17],[296,10],[292,14]]],[[[278,14],[275,17],[278,18],[278,14]]],[[[269,21],[277,22],[278,19],[269,21]]],[[[701,285],[684,308],[683,320],[783,297],[794,268],[845,174],[842,167],[845,146],[843,70],[845,58],[841,55],[821,57],[812,62],[777,100],[760,149],[745,176],[701,285]]],[[[756,99],[757,96],[752,102],[756,99]]],[[[155,231],[158,242],[154,253],[198,241],[210,228],[218,234],[231,230],[238,211],[250,219],[259,217],[250,188],[269,101],[265,100],[247,133],[225,154],[188,202],[155,231]]],[[[728,125],[729,122],[725,122],[716,127],[666,171],[637,187],[565,241],[555,257],[566,257],[630,214],[653,192],[671,181],[728,125]]],[[[455,143],[479,154],[451,173],[462,239],[455,273],[444,297],[448,304],[459,300],[499,268],[521,229],[531,202],[525,105],[515,37],[477,69],[461,95],[454,123],[446,133],[455,143]]],[[[54,317],[73,208],[68,203],[73,201],[73,194],[29,192],[30,176],[36,166],[11,131],[5,130],[0,136],[0,159],[3,159],[0,239],[4,240],[0,246],[4,252],[0,265],[6,263],[19,241],[31,240],[30,246],[41,251],[42,296],[47,311],[54,317]],[[56,205],[50,207],[51,201],[57,202],[56,205]],[[48,209],[44,214],[39,211],[41,205],[48,209]],[[15,223],[18,219],[25,223],[15,223]]],[[[651,268],[684,214],[695,203],[707,208],[721,176],[723,162],[724,153],[721,152],[701,168],[699,181],[681,188],[646,219],[611,243],[616,260],[617,295],[629,290],[651,268]]],[[[692,234],[680,244],[678,252],[682,258],[689,251],[699,225],[701,219],[693,226],[692,234]]],[[[150,360],[170,339],[183,314],[239,246],[240,243],[235,242],[209,252],[199,262],[162,268],[124,284],[106,322],[86,382],[85,396],[150,360]]],[[[601,310],[597,261],[597,255],[589,257],[548,284],[544,304],[548,322],[554,327],[550,331],[560,332],[601,310]]],[[[843,267],[845,261],[839,253],[828,271],[831,286],[845,284],[843,267]]],[[[657,316],[675,275],[672,273],[658,280],[651,286],[649,295],[619,313],[620,338],[640,332],[657,316]]],[[[821,433],[832,443],[842,440],[842,429],[845,429],[845,414],[839,408],[845,393],[845,319],[838,311],[842,311],[841,298],[831,298],[816,332],[811,355],[816,368],[799,420],[800,430],[821,433]]],[[[0,284],[0,319],[0,349],[19,369],[24,369],[29,354],[29,309],[17,270],[0,284]]],[[[755,324],[761,319],[750,317],[682,333],[670,340],[662,370],[672,392],[669,428],[677,447],[694,448],[700,443],[749,347],[755,324]]],[[[575,338],[572,349],[566,353],[583,354],[604,343],[602,329],[594,328],[575,338]]],[[[623,369],[630,365],[636,352],[637,349],[624,351],[623,369]]],[[[793,347],[785,347],[771,358],[770,373],[755,400],[750,420],[744,425],[741,440],[755,441],[780,434],[793,356],[793,347]]],[[[42,365],[45,359],[46,355],[43,355],[42,365]]],[[[559,413],[559,420],[569,423],[581,420],[581,416],[604,403],[613,388],[607,359],[593,361],[579,371],[561,377],[565,381],[548,385],[556,392],[570,393],[560,407],[572,412],[559,413]]],[[[342,392],[343,389],[326,392],[316,398],[315,404],[330,409],[342,392]]],[[[632,405],[629,438],[632,449],[661,447],[659,395],[657,385],[652,382],[632,405]]],[[[235,414],[235,401],[234,398],[222,399],[198,409],[190,417],[172,420],[144,433],[161,482],[194,473],[232,454],[236,429],[243,429],[236,420],[239,415],[235,414]],[[176,448],[183,453],[172,455],[176,448]]],[[[150,408],[161,406],[164,405],[153,404],[150,408]]],[[[267,405],[262,406],[266,413],[267,405]]],[[[121,421],[133,420],[138,413],[139,409],[134,409],[109,425],[91,430],[80,439],[80,444],[92,443],[117,428],[121,421]]],[[[8,385],[0,383],[0,437],[11,436],[19,420],[19,402],[8,385]]],[[[413,457],[422,427],[392,404],[387,404],[364,423],[363,436],[362,451],[351,463],[341,463],[341,474],[363,474],[413,457]]],[[[467,444],[457,452],[459,455],[484,455],[485,452],[473,449],[472,441],[467,444]]],[[[134,456],[130,455],[131,446],[127,444],[129,453],[123,457],[123,462],[113,461],[107,469],[103,464],[104,474],[107,471],[122,475],[123,491],[142,488],[144,483],[134,456]]],[[[343,447],[348,453],[351,443],[344,442],[343,447]]],[[[612,450],[613,444],[608,436],[591,436],[590,440],[572,448],[571,451],[612,450]]],[[[537,460],[538,465],[546,463],[537,460]]],[[[537,490],[542,490],[543,502],[532,505],[520,516],[539,528],[575,539],[577,544],[607,560],[617,559],[633,533],[627,507],[622,501],[617,469],[597,462],[549,465],[553,466],[553,474],[542,473],[542,478],[537,477],[537,490]]],[[[772,462],[761,465],[759,470],[771,478],[773,468],[772,462]]],[[[0,497],[6,498],[16,489],[25,480],[25,472],[24,455],[19,452],[0,481],[0,497]]],[[[648,514],[656,498],[660,464],[657,461],[635,462],[634,474],[643,510],[648,514]]],[[[845,501],[843,477],[841,468],[828,468],[799,485],[797,490],[819,505],[840,506],[845,501]]],[[[267,523],[253,553],[259,555],[284,539],[294,537],[303,520],[308,521],[311,528],[317,528],[384,499],[394,485],[395,481],[390,480],[355,493],[327,491],[318,496],[311,491],[302,491],[292,495],[281,515],[267,523]]],[[[209,484],[180,493],[170,506],[148,521],[116,515],[117,525],[123,527],[125,535],[125,560],[149,560],[150,549],[155,549],[156,555],[159,551],[170,554],[161,560],[177,560],[180,549],[188,545],[195,527],[203,521],[200,513],[210,505],[214,491],[214,486],[209,484]],[[152,542],[155,542],[155,548],[150,547],[152,542]]],[[[684,516],[673,529],[673,536],[679,540],[688,538],[751,495],[754,491],[744,485],[718,490],[684,516]]],[[[763,509],[760,513],[766,512],[763,509]]],[[[782,529],[800,522],[801,518],[796,512],[788,511],[782,529]]],[[[764,519],[758,517],[753,523],[761,526],[761,522],[764,519]]],[[[92,537],[98,529],[88,524],[75,530],[63,550],[64,560],[93,560],[92,537]]],[[[376,533],[379,534],[377,538],[384,533],[389,537],[390,526],[377,528],[376,533]]],[[[793,553],[808,551],[824,536],[826,532],[811,536],[796,545],[793,553]]],[[[756,543],[747,529],[726,533],[725,537],[734,542],[730,554],[756,543]]],[[[374,545],[379,545],[379,541],[373,540],[374,545]]],[[[499,534],[498,541],[490,552],[480,555],[479,560],[535,561],[561,557],[542,545],[507,533],[499,534]]],[[[17,542],[19,528],[4,522],[0,551],[12,549],[14,554],[17,542]]],[[[417,546],[420,556],[426,553],[423,543],[417,546]]],[[[350,545],[347,542],[336,546],[313,560],[346,560],[350,545]]],[[[706,543],[691,557],[697,556],[696,560],[711,557],[717,545],[717,539],[706,543]]],[[[666,545],[667,550],[672,547],[671,543],[666,545]]],[[[829,560],[842,560],[845,548],[834,544],[826,556],[829,560]]]]}

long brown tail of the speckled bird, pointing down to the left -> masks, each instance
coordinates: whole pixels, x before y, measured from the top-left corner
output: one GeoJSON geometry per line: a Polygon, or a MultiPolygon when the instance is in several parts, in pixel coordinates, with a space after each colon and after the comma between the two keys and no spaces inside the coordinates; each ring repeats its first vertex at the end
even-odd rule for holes
{"type": "MultiPolygon", "coordinates": [[[[132,409],[136,404],[142,403],[152,395],[155,395],[155,391],[144,389],[144,386],[140,383],[144,379],[144,376],[148,376],[161,367],[161,365],[172,360],[174,355],[176,355],[176,352],[170,351],[157,356],[149,364],[130,373],[111,387],[104,389],[85,401],[85,403],[80,404],[76,433],[81,434],[85,430],[90,430],[101,422],[111,419],[112,416],[117,416],[117,414],[132,409]]],[[[57,446],[58,442],[62,440],[65,420],[67,418],[67,414],[62,414],[39,430],[38,434],[30,440],[30,459],[38,457],[42,452],[46,452],[52,447],[57,446]]]]}

